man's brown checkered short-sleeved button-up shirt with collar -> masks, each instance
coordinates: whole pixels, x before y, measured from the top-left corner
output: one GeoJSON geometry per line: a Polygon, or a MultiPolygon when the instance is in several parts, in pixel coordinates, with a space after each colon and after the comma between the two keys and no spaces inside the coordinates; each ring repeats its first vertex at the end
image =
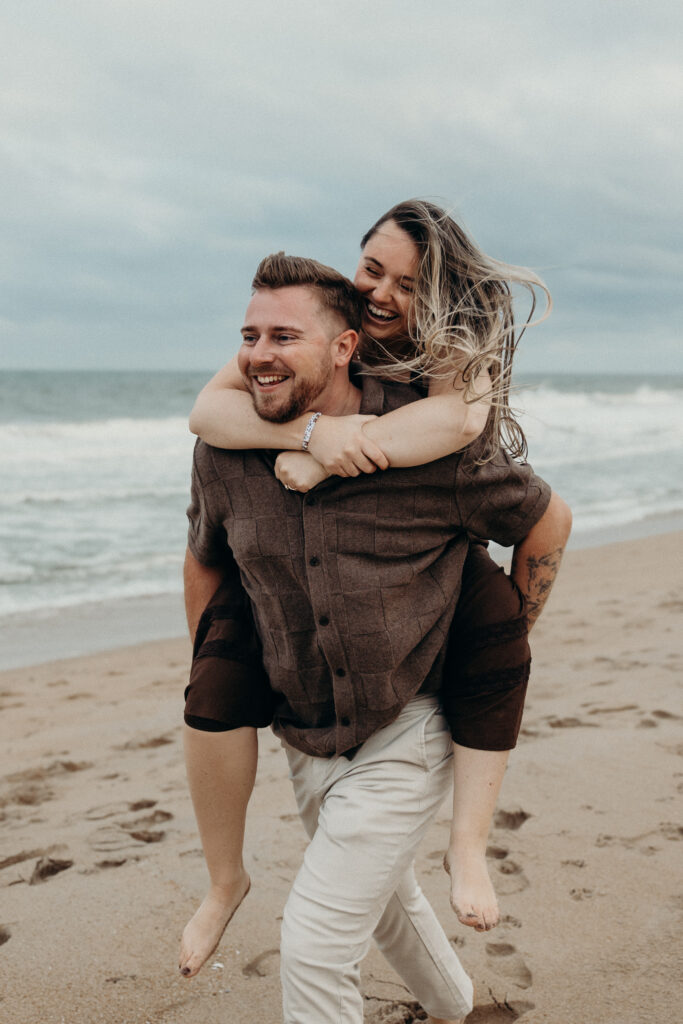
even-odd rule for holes
{"type": "MultiPolygon", "coordinates": [[[[360,412],[416,400],[361,377],[360,412]]],[[[275,691],[274,725],[315,756],[349,751],[417,692],[435,692],[469,536],[519,543],[550,488],[504,453],[331,477],[307,495],[273,475],[275,453],[198,441],[188,544],[206,565],[232,556],[275,691]]]]}

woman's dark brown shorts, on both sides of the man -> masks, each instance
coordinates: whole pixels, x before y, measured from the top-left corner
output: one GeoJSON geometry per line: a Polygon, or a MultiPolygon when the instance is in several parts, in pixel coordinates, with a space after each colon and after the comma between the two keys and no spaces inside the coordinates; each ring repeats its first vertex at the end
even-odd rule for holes
{"type": "MultiPolygon", "coordinates": [[[[274,698],[251,609],[246,595],[236,599],[234,592],[234,586],[216,591],[197,631],[185,690],[185,722],[195,729],[225,732],[272,720],[274,698]]],[[[530,665],[526,634],[519,590],[483,545],[472,544],[440,693],[457,743],[484,751],[515,745],[530,665]]]]}

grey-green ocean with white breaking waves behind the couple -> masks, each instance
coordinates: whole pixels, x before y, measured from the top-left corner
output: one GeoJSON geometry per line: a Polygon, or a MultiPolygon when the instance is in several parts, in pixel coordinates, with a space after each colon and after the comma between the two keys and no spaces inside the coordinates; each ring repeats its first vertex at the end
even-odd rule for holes
{"type": "MultiPolygon", "coordinates": [[[[186,420],[208,376],[0,374],[0,622],[180,592],[186,420]]],[[[683,513],[683,376],[526,377],[513,404],[574,544],[683,513]]]]}

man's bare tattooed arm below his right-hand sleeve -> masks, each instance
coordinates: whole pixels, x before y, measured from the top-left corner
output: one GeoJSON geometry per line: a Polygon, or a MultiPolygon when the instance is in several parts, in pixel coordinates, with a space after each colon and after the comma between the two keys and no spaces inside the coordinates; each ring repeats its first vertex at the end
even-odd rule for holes
{"type": "Polygon", "coordinates": [[[553,492],[541,519],[515,545],[510,575],[526,599],[529,629],[548,600],[570,530],[571,510],[553,492]]]}

